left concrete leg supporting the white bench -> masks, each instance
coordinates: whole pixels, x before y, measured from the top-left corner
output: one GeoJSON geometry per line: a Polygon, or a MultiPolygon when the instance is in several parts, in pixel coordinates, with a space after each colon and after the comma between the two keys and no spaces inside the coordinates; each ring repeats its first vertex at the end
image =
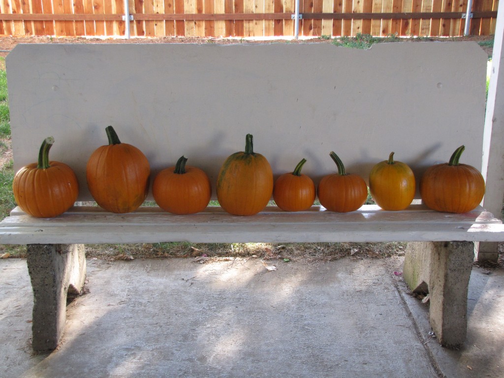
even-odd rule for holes
{"type": "Polygon", "coordinates": [[[65,331],[67,295],[79,294],[86,279],[84,244],[28,244],[33,287],[32,347],[54,350],[65,331]]]}

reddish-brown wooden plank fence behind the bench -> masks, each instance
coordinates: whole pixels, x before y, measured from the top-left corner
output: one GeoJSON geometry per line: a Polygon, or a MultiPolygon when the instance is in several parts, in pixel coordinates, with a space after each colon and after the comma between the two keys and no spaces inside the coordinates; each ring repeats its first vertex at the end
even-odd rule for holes
{"type": "MultiPolygon", "coordinates": [[[[124,0],[0,0],[0,34],[124,36],[124,0]]],[[[498,0],[474,0],[471,35],[498,0]]],[[[467,0],[300,0],[300,36],[461,36],[467,0]]],[[[132,36],[292,36],[294,0],[130,0],[132,36]]]]}

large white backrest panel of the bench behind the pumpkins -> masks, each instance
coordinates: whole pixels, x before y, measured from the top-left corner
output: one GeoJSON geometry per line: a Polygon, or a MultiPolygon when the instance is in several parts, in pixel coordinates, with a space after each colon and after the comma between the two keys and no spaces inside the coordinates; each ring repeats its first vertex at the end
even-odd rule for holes
{"type": "Polygon", "coordinates": [[[276,175],[305,157],[316,181],[334,150],[366,180],[394,151],[416,176],[466,145],[481,167],[486,54],[473,42],[330,44],[22,44],[7,58],[14,164],[85,167],[113,125],[148,157],[152,176],[181,155],[215,183],[245,134],[276,175]]]}

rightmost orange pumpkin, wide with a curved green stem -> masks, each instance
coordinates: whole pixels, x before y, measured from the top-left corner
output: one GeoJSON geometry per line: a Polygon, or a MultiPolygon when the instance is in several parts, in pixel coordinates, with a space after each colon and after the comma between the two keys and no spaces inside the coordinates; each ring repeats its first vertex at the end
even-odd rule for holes
{"type": "Polygon", "coordinates": [[[420,196],[428,208],[466,213],[481,203],[485,195],[485,180],[476,168],[459,163],[464,149],[460,146],[448,163],[433,165],[422,175],[420,196]]]}

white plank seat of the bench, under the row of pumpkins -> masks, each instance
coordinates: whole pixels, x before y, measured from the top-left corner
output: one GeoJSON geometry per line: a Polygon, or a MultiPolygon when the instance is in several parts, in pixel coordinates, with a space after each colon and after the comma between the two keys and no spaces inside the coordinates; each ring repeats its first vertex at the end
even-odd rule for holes
{"type": "Polygon", "coordinates": [[[466,214],[439,213],[424,205],[383,211],[364,205],[339,214],[313,206],[288,213],[267,207],[250,217],[208,207],[193,215],[172,215],[157,207],[112,214],[98,207],[73,207],[53,219],[37,219],[15,209],[0,223],[0,243],[191,242],[377,242],[499,241],[501,221],[478,207],[466,214]]]}

